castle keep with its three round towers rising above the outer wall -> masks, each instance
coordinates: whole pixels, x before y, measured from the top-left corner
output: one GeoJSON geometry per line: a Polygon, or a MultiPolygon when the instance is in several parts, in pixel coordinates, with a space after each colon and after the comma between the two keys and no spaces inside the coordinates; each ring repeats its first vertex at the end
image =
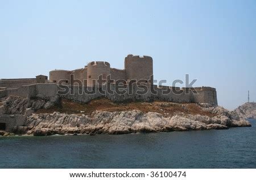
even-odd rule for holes
{"type": "MultiPolygon", "coordinates": [[[[69,79],[70,75],[73,75],[75,79],[82,82],[80,85],[86,85],[93,87],[95,82],[93,80],[98,79],[98,76],[102,75],[102,79],[106,80],[107,76],[111,76],[111,79],[115,81],[122,79],[126,82],[130,80],[144,80],[144,83],[151,83],[153,75],[153,59],[149,56],[129,54],[125,58],[125,69],[119,70],[117,68],[110,67],[108,62],[93,61],[89,62],[84,68],[80,68],[73,71],[67,70],[53,70],[49,72],[49,82],[58,83],[62,79],[69,79]],[[85,81],[86,80],[86,81],[85,81]]],[[[70,83],[70,82],[67,82],[70,83]]]]}

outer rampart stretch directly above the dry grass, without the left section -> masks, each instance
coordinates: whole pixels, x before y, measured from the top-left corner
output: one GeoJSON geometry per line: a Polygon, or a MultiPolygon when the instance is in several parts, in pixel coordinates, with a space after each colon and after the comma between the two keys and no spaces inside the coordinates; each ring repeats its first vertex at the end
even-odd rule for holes
{"type": "MultiPolygon", "coordinates": [[[[112,89],[112,91],[115,89],[115,85],[108,85],[109,89],[112,89]]],[[[72,86],[72,93],[68,93],[67,95],[62,95],[62,97],[67,98],[69,100],[74,100],[74,101],[79,101],[79,102],[89,102],[90,100],[93,100],[95,98],[100,98],[100,97],[106,97],[109,100],[112,100],[114,102],[121,102],[121,101],[152,101],[152,100],[159,100],[159,101],[168,101],[168,102],[178,102],[178,103],[183,103],[183,102],[193,102],[193,94],[192,92],[189,92],[189,94],[186,94],[185,91],[183,91],[182,89],[179,91],[178,93],[175,93],[174,89],[172,89],[172,91],[169,91],[168,93],[166,93],[167,88],[170,89],[170,87],[162,87],[162,88],[158,88],[158,87],[154,87],[156,94],[152,95],[152,93],[150,91],[144,93],[144,94],[140,94],[140,93],[133,93],[131,95],[129,94],[117,94],[117,93],[109,93],[106,92],[105,94],[100,93],[98,88],[89,88],[89,91],[92,91],[92,89],[96,89],[94,90],[94,93],[92,94],[85,94],[83,93],[83,90],[86,87],[81,87],[81,86],[72,86]]],[[[148,87],[149,88],[149,87],[148,87]]],[[[106,87],[102,87],[103,90],[106,89],[106,87]]],[[[127,88],[124,88],[127,90],[127,88]]],[[[141,86],[134,86],[133,87],[133,92],[136,92],[137,90],[142,91],[141,86]]],[[[128,91],[128,90],[127,90],[128,91]]],[[[204,91],[199,92],[198,94],[200,97],[202,96],[203,98],[201,99],[197,99],[197,102],[205,102],[205,103],[209,103],[209,104],[214,104],[214,99],[213,97],[209,97],[208,99],[205,98],[205,96],[207,96],[207,94],[204,91]]]]}

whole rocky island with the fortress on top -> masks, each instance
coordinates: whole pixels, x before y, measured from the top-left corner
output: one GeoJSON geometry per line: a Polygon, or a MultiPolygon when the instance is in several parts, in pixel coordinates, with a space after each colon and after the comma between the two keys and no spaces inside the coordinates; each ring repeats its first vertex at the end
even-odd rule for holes
{"type": "Polygon", "coordinates": [[[123,70],[93,61],[77,70],[50,71],[49,79],[44,75],[0,79],[0,135],[128,134],[251,126],[240,112],[218,106],[215,88],[155,85],[152,65],[149,56],[129,54],[123,70]]]}

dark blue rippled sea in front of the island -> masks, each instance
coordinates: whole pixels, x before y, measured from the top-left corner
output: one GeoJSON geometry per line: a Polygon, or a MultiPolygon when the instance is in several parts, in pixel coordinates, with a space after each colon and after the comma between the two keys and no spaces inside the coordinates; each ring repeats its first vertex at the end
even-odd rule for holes
{"type": "Polygon", "coordinates": [[[253,127],[127,135],[0,137],[0,168],[256,168],[253,127]]]}

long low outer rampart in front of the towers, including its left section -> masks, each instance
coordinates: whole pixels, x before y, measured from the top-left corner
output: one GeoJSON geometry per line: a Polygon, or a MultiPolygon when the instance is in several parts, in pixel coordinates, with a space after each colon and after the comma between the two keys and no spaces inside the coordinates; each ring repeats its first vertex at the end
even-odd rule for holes
{"type": "MultiPolygon", "coordinates": [[[[112,100],[114,102],[122,102],[122,101],[167,101],[167,102],[177,102],[177,103],[189,103],[189,102],[195,102],[195,103],[208,103],[208,104],[214,104],[217,105],[217,96],[216,91],[213,91],[212,89],[207,90],[198,90],[197,94],[193,94],[191,91],[189,91],[188,94],[185,93],[183,89],[180,89],[178,91],[179,93],[175,93],[175,88],[173,87],[156,87],[155,85],[152,85],[154,87],[155,94],[151,94],[151,92],[154,91],[147,91],[146,93],[140,94],[138,91],[143,91],[142,85],[133,85],[133,87],[130,87],[130,90],[132,88],[133,92],[131,94],[125,93],[123,95],[106,91],[105,94],[102,94],[99,92],[100,89],[106,90],[106,87],[111,89],[115,92],[115,85],[114,84],[107,84],[102,87],[86,87],[86,86],[71,86],[72,91],[70,93],[67,93],[67,95],[61,95],[61,97],[67,98],[69,100],[79,101],[79,102],[89,102],[90,100],[93,100],[95,98],[100,97],[106,97],[109,100],[112,100]],[[92,89],[96,89],[96,93],[84,93],[84,89],[89,88],[89,91],[92,92],[92,89]],[[172,89],[172,91],[168,91],[166,93],[166,90],[172,89]],[[137,93],[135,93],[137,92],[137,93]]],[[[148,88],[150,85],[148,85],[148,88]]],[[[127,90],[127,86],[123,87],[127,90]]],[[[21,97],[54,97],[57,95],[57,92],[59,90],[59,86],[57,84],[33,84],[33,85],[25,85],[20,88],[16,89],[6,89],[6,95],[7,96],[21,96],[21,97]]],[[[122,89],[120,89],[122,90],[122,89]]],[[[177,89],[179,90],[179,89],[177,89]]],[[[128,90],[127,90],[128,92],[128,90]]]]}

